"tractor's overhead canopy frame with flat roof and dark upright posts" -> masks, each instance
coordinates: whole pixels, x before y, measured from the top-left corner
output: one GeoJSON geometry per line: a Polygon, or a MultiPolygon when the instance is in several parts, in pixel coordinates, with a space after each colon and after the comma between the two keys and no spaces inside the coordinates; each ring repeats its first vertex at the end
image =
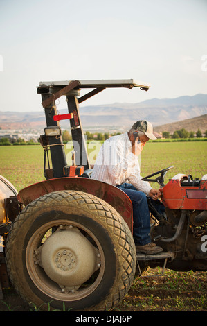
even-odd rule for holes
{"type": "MultiPolygon", "coordinates": [[[[80,121],[79,103],[87,100],[91,96],[102,92],[106,88],[125,87],[132,89],[139,87],[147,91],[150,84],[137,82],[134,79],[123,80],[65,80],[40,82],[37,93],[42,95],[42,106],[46,115],[47,128],[59,126],[59,121],[69,119],[71,124],[71,136],[73,139],[75,162],[83,165],[84,170],[90,169],[89,158],[87,155],[87,145],[84,140],[84,132],[80,121]],[[90,89],[89,92],[80,97],[80,89],[90,89]],[[55,100],[61,96],[66,96],[68,114],[57,114],[55,100]],[[76,148],[76,147],[77,148],[76,148]]],[[[47,146],[50,146],[51,161],[53,169],[45,169],[46,178],[62,178],[68,169],[66,155],[61,137],[48,135],[47,146]],[[60,146],[57,146],[60,145],[60,146]],[[51,173],[52,176],[49,174],[51,173]]],[[[42,137],[44,141],[44,136],[42,137]]]]}

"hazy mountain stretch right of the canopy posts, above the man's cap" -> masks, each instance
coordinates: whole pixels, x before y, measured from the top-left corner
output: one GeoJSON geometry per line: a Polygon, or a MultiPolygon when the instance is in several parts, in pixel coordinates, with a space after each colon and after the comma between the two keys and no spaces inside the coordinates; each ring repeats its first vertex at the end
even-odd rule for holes
{"type": "Polygon", "coordinates": [[[179,98],[153,98],[140,103],[114,103],[80,109],[83,126],[132,126],[146,119],[154,126],[207,113],[207,94],[179,98]]]}

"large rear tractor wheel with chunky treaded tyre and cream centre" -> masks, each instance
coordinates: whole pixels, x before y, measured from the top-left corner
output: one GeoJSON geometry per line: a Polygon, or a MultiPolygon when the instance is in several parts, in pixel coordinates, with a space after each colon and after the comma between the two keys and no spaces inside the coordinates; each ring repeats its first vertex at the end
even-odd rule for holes
{"type": "Polygon", "coordinates": [[[109,311],[136,270],[132,233],[116,210],[81,191],[57,191],[19,214],[6,243],[8,274],[28,303],[109,311]]]}

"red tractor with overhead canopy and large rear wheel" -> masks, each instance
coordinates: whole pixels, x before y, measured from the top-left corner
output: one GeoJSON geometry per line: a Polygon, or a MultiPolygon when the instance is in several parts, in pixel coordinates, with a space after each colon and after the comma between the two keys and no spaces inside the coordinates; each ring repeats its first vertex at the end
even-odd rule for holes
{"type": "Polygon", "coordinates": [[[207,175],[199,180],[178,174],[165,185],[170,166],[143,178],[159,184],[165,205],[161,216],[149,201],[151,239],[164,249],[156,255],[136,252],[129,197],[91,178],[79,104],[113,87],[147,91],[150,85],[132,79],[39,83],[46,117],[39,137],[44,180],[17,192],[0,176],[0,289],[11,283],[28,304],[111,311],[146,266],[207,271],[207,175]],[[58,114],[55,106],[61,96],[66,96],[66,114],[58,114]],[[63,119],[69,119],[79,146],[71,165],[62,141],[63,119]]]}

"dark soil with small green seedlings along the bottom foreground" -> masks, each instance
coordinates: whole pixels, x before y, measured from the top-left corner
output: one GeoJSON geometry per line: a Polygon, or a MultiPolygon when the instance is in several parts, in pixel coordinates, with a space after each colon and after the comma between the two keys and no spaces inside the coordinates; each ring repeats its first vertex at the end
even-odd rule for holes
{"type": "MultiPolygon", "coordinates": [[[[150,269],[138,276],[114,311],[207,311],[207,272],[167,270],[159,275],[150,269]]],[[[38,311],[38,307],[29,307],[11,287],[3,289],[0,311],[38,311]]]]}

